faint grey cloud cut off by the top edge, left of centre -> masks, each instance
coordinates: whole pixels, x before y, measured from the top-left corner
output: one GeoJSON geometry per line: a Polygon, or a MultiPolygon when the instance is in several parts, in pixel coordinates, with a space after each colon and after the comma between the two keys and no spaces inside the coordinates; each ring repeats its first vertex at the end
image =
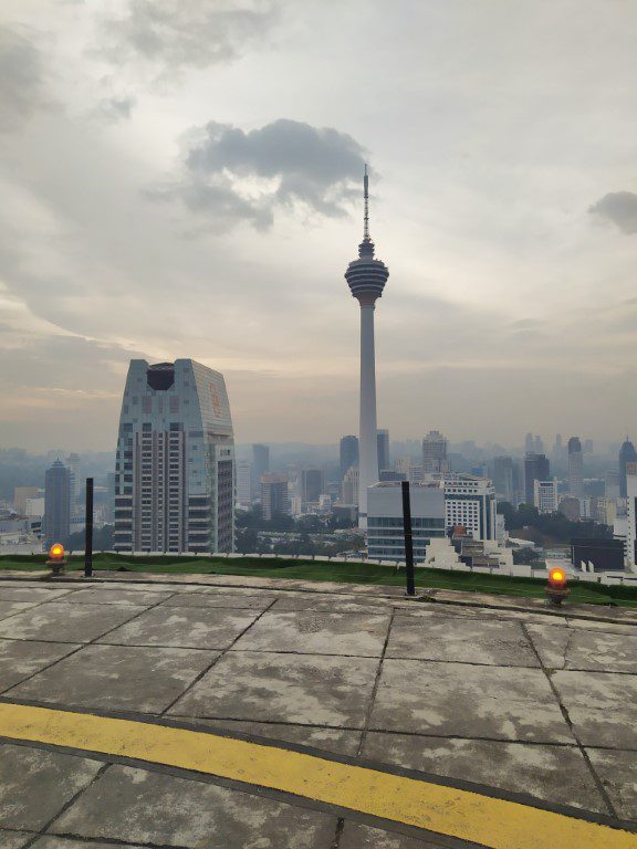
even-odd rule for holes
{"type": "Polygon", "coordinates": [[[278,18],[280,0],[128,0],[108,20],[113,57],[143,59],[175,72],[233,59],[278,18]]]}

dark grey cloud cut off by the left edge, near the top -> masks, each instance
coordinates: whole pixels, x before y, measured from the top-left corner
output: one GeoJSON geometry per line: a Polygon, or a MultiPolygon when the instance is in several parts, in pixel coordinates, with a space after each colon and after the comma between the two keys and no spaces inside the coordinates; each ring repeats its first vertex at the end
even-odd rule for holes
{"type": "Polygon", "coordinates": [[[20,32],[0,27],[0,132],[19,127],[45,105],[38,49],[20,32]]]}

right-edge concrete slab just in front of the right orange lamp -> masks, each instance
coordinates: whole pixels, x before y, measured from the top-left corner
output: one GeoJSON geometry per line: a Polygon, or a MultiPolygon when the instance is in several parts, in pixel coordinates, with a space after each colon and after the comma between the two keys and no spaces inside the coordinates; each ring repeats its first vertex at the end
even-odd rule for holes
{"type": "Polygon", "coordinates": [[[542,663],[551,669],[637,673],[637,635],[529,626],[542,663]]]}

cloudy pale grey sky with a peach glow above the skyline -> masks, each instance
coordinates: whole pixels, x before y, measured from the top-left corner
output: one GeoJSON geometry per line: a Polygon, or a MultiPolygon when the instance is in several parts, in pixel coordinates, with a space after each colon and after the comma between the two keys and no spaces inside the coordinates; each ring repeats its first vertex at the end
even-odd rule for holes
{"type": "Polygon", "coordinates": [[[239,442],[637,437],[633,0],[2,0],[0,447],[115,446],[128,360],[239,442]]]}

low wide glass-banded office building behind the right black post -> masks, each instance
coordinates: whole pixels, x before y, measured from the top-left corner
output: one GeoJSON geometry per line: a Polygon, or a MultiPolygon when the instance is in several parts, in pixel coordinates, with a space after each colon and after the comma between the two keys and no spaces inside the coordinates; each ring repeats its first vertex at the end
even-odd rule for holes
{"type": "MultiPolygon", "coordinates": [[[[410,489],[414,560],[422,563],[431,538],[445,536],[445,495],[437,484],[410,489]]],[[[376,483],[367,493],[367,555],[405,560],[403,490],[399,483],[376,483]]]]}

